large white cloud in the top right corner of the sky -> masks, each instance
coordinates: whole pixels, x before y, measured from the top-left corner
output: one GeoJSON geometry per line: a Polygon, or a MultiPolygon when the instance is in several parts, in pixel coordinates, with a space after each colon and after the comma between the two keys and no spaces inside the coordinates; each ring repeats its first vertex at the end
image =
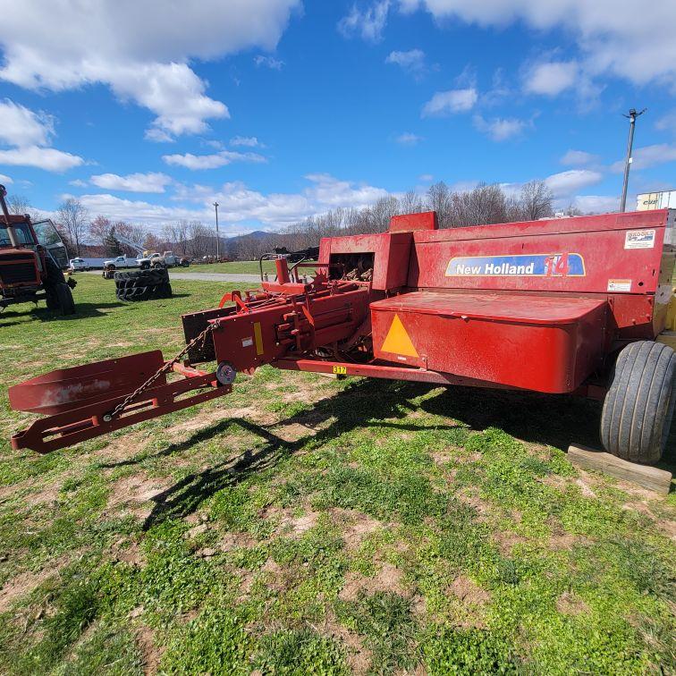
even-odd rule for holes
{"type": "Polygon", "coordinates": [[[645,85],[667,80],[676,86],[676,3],[653,0],[641,10],[630,0],[403,0],[403,9],[419,5],[438,21],[455,19],[481,27],[523,21],[535,30],[570,31],[581,65],[590,75],[613,74],[645,85]]]}

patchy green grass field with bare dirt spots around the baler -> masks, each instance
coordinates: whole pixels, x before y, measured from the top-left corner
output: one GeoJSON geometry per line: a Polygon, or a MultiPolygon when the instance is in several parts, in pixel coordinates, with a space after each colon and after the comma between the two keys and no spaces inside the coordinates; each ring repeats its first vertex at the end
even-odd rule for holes
{"type": "Polygon", "coordinates": [[[6,385],[181,347],[224,284],[0,316],[0,672],[674,673],[676,499],[574,469],[587,401],[260,368],[38,457],[6,385]]]}

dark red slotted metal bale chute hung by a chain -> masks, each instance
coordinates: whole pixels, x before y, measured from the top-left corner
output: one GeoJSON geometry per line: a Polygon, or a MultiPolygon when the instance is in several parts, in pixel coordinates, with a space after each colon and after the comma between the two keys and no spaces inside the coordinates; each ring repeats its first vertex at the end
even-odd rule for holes
{"type": "Polygon", "coordinates": [[[14,410],[47,416],[13,435],[12,447],[55,451],[231,391],[215,374],[165,361],[158,350],[60,368],[10,387],[14,410]],[[183,377],[167,382],[169,371],[183,377]]]}

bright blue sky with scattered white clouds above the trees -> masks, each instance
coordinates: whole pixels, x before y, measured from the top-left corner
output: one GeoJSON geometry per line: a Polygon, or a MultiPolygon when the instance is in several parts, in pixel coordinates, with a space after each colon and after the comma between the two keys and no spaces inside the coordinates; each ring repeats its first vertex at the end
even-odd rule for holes
{"type": "Polygon", "coordinates": [[[676,3],[8,4],[0,174],[51,211],[274,230],[444,180],[612,210],[676,188],[676,3]],[[589,6],[593,5],[593,6],[589,6]],[[186,6],[189,9],[186,11],[186,6]],[[631,202],[630,202],[631,203],[631,202]]]}

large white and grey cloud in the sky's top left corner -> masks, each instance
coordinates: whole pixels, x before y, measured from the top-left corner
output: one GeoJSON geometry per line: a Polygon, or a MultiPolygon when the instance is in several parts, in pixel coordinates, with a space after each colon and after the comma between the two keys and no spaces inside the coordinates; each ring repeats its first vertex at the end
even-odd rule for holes
{"type": "Polygon", "coordinates": [[[206,95],[190,59],[274,49],[298,6],[300,0],[201,0],[186,11],[156,0],[63,0],[55,30],[52,3],[23,0],[3,9],[0,78],[53,91],[104,83],[156,114],[151,140],[197,133],[228,109],[206,95]]]}

